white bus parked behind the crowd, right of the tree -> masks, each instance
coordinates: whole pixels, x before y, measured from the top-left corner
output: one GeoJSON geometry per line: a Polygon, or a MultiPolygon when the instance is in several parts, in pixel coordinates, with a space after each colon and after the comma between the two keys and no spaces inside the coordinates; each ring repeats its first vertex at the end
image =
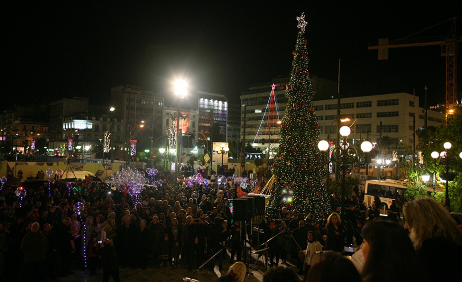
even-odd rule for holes
{"type": "MultiPolygon", "coordinates": [[[[386,210],[390,207],[391,201],[396,200],[399,208],[404,204],[404,192],[406,191],[406,182],[399,180],[367,180],[364,190],[364,202],[366,206],[372,205],[374,197],[379,196],[382,205],[380,214],[386,215],[386,210]]],[[[377,207],[376,207],[377,208],[377,207]]]]}

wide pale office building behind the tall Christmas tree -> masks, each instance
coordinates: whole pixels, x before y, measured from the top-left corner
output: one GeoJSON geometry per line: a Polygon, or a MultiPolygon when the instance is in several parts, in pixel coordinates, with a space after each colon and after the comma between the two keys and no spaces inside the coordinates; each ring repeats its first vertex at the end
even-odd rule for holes
{"type": "MultiPolygon", "coordinates": [[[[285,84],[280,83],[274,92],[281,119],[287,104],[284,86],[285,84]]],[[[241,95],[240,132],[246,143],[253,143],[264,150],[267,146],[265,143],[269,139],[273,144],[279,143],[279,128],[274,130],[274,136],[257,134],[265,116],[265,108],[271,92],[270,84],[266,84],[266,87],[262,89],[265,91],[253,91],[241,95]]],[[[316,89],[315,86],[314,89],[316,89]]],[[[330,93],[316,91],[312,101],[321,130],[319,139],[330,139],[334,144],[337,142],[338,102],[336,97],[336,90],[330,87],[330,93]],[[332,98],[319,99],[320,97],[332,98]]],[[[418,96],[408,93],[341,98],[340,118],[349,118],[349,121],[343,124],[351,127],[349,138],[353,144],[360,140],[376,143],[380,136],[387,136],[387,141],[391,143],[388,148],[402,153],[415,148],[418,144],[414,132],[419,128],[423,129],[425,118],[427,126],[438,126],[445,122],[444,112],[430,109],[425,113],[424,109],[419,107],[419,102],[418,96]]]]}

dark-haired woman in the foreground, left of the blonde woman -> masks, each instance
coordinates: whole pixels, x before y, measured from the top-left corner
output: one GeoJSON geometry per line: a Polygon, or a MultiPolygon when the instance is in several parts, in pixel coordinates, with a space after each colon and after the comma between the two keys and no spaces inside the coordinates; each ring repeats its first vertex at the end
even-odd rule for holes
{"type": "Polygon", "coordinates": [[[363,237],[363,282],[428,281],[403,227],[394,222],[373,221],[364,226],[363,237]]]}

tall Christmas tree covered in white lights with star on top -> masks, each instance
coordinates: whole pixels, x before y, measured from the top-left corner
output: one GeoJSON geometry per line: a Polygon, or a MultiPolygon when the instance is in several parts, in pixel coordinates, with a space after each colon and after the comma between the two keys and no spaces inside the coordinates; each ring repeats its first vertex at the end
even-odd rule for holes
{"type": "Polygon", "coordinates": [[[305,15],[297,17],[300,31],[292,61],[291,78],[286,85],[288,98],[280,129],[279,150],[273,165],[276,177],[271,190],[267,214],[279,216],[286,206],[320,219],[330,210],[324,185],[325,163],[317,148],[320,129],[312,107],[314,90],[309,79],[307,40],[304,37],[305,15]]]}

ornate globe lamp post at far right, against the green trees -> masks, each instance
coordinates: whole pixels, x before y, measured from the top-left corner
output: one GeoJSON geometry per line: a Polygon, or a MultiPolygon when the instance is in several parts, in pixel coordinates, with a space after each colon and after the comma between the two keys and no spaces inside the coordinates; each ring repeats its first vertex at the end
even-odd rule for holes
{"type": "MultiPolygon", "coordinates": [[[[443,147],[446,151],[438,153],[433,151],[431,156],[435,165],[443,165],[445,172],[440,173],[440,178],[446,182],[446,191],[445,191],[445,207],[448,207],[449,212],[451,212],[451,201],[449,200],[449,181],[453,181],[456,177],[456,173],[450,172],[449,169],[451,165],[457,165],[458,159],[453,155],[451,148],[453,145],[451,142],[446,142],[443,144],[443,147]]],[[[459,153],[459,157],[462,159],[462,152],[459,153]]]]}

